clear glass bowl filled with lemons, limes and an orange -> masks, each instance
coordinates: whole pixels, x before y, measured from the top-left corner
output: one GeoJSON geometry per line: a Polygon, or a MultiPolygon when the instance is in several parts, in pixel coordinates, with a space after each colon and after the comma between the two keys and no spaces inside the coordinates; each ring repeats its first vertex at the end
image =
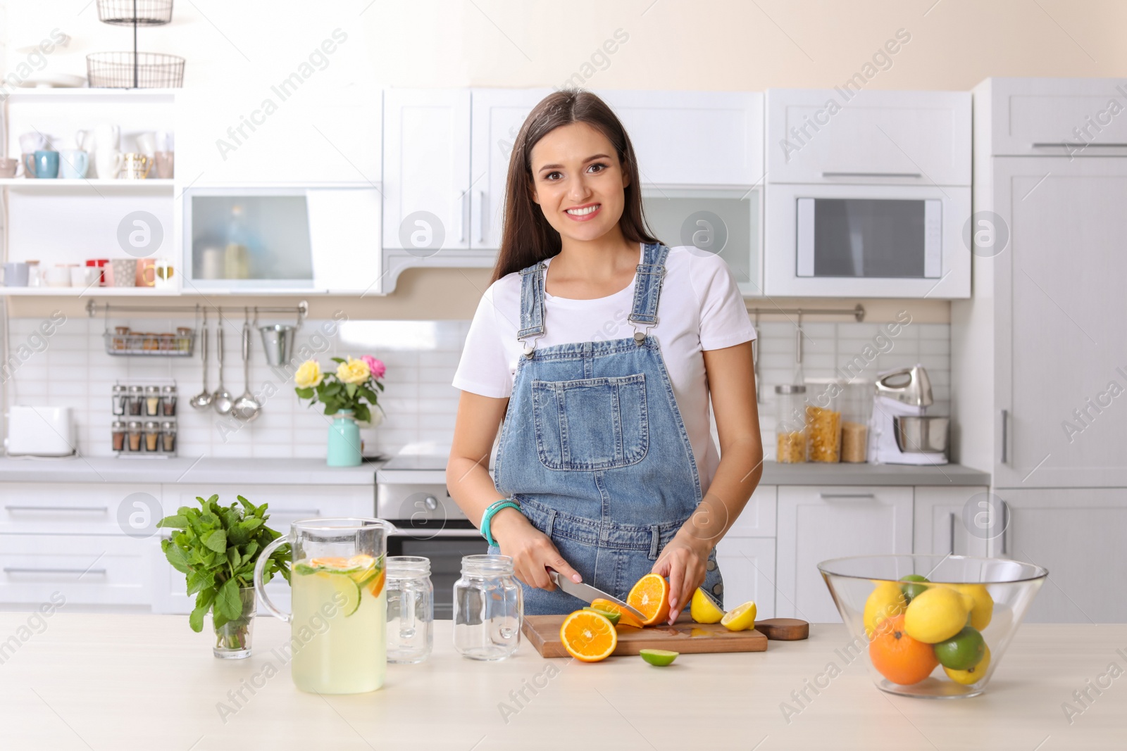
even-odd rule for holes
{"type": "Polygon", "coordinates": [[[961,555],[866,555],[818,564],[877,688],[978,696],[1048,571],[961,555]]]}

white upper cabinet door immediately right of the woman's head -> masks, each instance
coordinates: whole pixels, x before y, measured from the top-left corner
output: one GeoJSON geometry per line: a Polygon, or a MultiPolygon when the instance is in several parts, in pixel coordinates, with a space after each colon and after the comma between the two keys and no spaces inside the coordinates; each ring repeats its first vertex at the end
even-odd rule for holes
{"type": "Polygon", "coordinates": [[[596,91],[622,120],[642,185],[744,186],[763,179],[763,95],[596,91]]]}

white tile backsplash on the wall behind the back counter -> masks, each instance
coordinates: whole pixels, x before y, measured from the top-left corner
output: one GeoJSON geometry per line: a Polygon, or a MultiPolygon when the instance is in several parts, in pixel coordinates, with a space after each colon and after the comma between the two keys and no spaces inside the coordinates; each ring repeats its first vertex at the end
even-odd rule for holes
{"type": "MultiPolygon", "coordinates": [[[[38,319],[11,319],[9,341],[27,340],[38,319]]],[[[136,327],[170,331],[177,325],[194,325],[190,320],[135,321],[136,327]]],[[[321,342],[316,355],[323,368],[334,365],[330,357],[371,354],[388,366],[381,404],[387,413],[383,424],[366,429],[363,437],[367,453],[393,454],[408,442],[436,440],[449,442],[458,409],[459,392],[451,386],[469,330],[469,321],[349,321],[343,329],[326,334],[328,321],[305,321],[295,339],[293,367],[300,364],[302,347],[311,338],[321,342]],[[374,446],[374,448],[373,448],[374,446]]],[[[207,382],[218,385],[214,322],[207,382]]],[[[45,350],[33,354],[14,372],[6,384],[10,404],[52,404],[71,406],[78,426],[79,446],[87,456],[112,456],[109,444],[110,386],[121,381],[147,378],[176,381],[180,409],[179,454],[220,457],[323,457],[330,422],[318,408],[309,409],[293,393],[292,377],[266,365],[261,342],[251,342],[251,388],[265,402],[261,417],[249,424],[234,424],[213,411],[196,411],[188,397],[201,390],[202,366],[198,357],[141,358],[110,357],[105,352],[100,319],[69,319],[47,340],[45,350]],[[267,395],[273,390],[273,395],[267,395]]],[[[224,324],[225,361],[223,381],[231,393],[243,391],[242,363],[239,357],[241,318],[224,324]]],[[[878,372],[921,363],[931,376],[935,405],[932,414],[948,414],[950,408],[950,325],[909,323],[888,336],[877,323],[805,323],[804,372],[808,378],[872,379],[878,372]],[[882,351],[881,351],[882,350],[882,351]],[[857,360],[855,358],[860,358],[857,360]],[[860,373],[848,369],[850,361],[864,365],[860,373]]],[[[761,322],[760,377],[764,402],[760,404],[764,448],[774,450],[774,386],[790,383],[795,372],[795,324],[761,322]]],[[[292,368],[290,370],[292,373],[292,368]]]]}

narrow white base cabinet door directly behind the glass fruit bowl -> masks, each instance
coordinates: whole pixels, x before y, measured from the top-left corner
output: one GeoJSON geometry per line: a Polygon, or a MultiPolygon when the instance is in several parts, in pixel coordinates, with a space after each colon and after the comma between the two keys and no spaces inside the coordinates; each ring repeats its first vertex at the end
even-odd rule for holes
{"type": "MultiPolygon", "coordinates": [[[[966,516],[984,511],[986,507],[978,504],[987,501],[986,492],[985,486],[916,486],[913,552],[986,556],[987,538],[984,533],[976,534],[968,527],[966,516]]],[[[969,517],[969,522],[974,524],[974,516],[969,517]]]]}

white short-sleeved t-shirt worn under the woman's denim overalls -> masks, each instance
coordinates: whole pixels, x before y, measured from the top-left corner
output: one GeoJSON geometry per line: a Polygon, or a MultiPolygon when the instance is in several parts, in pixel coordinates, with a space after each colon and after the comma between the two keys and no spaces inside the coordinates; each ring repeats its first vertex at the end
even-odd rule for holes
{"type": "MultiPolygon", "coordinates": [[[[551,265],[551,260],[544,262],[551,265]]],[[[695,248],[671,248],[665,267],[658,322],[648,333],[662,346],[702,491],[707,492],[720,456],[709,430],[708,381],[701,352],[751,341],[755,329],[721,258],[695,248]]],[[[545,293],[545,330],[535,347],[632,337],[635,330],[627,316],[633,307],[635,281],[637,275],[624,289],[596,299],[545,293]]],[[[482,396],[508,397],[524,350],[516,339],[520,328],[521,275],[513,272],[495,281],[481,296],[454,374],[454,387],[482,396]]]]}

